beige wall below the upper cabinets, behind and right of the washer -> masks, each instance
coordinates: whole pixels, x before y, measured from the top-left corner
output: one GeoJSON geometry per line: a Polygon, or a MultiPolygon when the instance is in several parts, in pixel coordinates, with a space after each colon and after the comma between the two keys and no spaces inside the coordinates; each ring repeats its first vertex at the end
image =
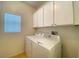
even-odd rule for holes
{"type": "Polygon", "coordinates": [[[58,31],[63,48],[62,57],[78,57],[79,47],[79,26],[57,26],[48,28],[38,28],[37,32],[50,33],[58,31]]]}

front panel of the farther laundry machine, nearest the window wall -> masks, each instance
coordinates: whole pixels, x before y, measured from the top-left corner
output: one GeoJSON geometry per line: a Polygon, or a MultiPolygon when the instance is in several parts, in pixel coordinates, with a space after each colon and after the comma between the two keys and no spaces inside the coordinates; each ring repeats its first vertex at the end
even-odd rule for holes
{"type": "Polygon", "coordinates": [[[27,57],[31,57],[31,54],[32,54],[32,45],[31,45],[31,40],[30,39],[26,39],[26,44],[25,44],[25,51],[26,51],[26,54],[27,54],[27,57]]]}

